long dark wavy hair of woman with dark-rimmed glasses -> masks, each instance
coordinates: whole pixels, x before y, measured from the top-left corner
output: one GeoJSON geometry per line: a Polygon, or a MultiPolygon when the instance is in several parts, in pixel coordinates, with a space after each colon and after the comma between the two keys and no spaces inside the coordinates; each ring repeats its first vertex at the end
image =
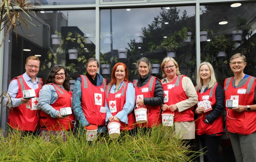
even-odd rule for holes
{"type": "Polygon", "coordinates": [[[63,83],[63,87],[65,88],[65,90],[70,91],[70,75],[69,75],[69,73],[67,73],[66,68],[61,65],[57,65],[51,69],[51,72],[49,73],[49,75],[47,77],[46,84],[55,83],[54,82],[55,74],[57,72],[59,72],[61,69],[63,69],[65,72],[65,81],[63,83]]]}

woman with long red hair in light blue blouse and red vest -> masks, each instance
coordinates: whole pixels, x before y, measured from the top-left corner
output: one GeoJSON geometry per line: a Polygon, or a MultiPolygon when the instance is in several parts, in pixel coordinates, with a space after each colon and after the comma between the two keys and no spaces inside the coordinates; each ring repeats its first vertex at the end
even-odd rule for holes
{"type": "Polygon", "coordinates": [[[120,130],[132,130],[135,127],[134,113],[135,88],[128,82],[128,71],[124,63],[116,63],[112,69],[111,81],[107,85],[106,122],[120,121],[120,130]]]}

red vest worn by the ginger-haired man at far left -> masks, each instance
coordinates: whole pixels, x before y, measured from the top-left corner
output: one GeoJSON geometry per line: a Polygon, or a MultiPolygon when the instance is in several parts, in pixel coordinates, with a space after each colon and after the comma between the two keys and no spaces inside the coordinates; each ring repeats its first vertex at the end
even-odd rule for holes
{"type": "MultiPolygon", "coordinates": [[[[23,90],[30,90],[27,83],[23,79],[23,76],[17,76],[14,79],[17,79],[19,90],[16,96],[16,99],[23,97],[23,90]]],[[[13,81],[12,79],[11,81],[13,81]]],[[[39,121],[39,108],[38,108],[38,94],[39,90],[42,88],[42,79],[37,78],[38,88],[35,90],[36,97],[29,99],[30,108],[26,108],[26,104],[21,104],[18,107],[11,108],[9,110],[8,124],[14,129],[24,130],[24,131],[36,131],[39,121]]]]}

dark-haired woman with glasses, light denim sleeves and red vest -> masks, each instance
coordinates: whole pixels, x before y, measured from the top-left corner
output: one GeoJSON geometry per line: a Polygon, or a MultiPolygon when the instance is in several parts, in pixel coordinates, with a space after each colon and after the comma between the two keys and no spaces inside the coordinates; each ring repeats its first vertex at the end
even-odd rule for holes
{"type": "Polygon", "coordinates": [[[72,111],[71,115],[62,116],[61,108],[71,108],[71,97],[70,76],[65,67],[53,67],[47,77],[47,85],[39,91],[41,136],[49,139],[50,135],[61,135],[66,140],[66,132],[63,130],[73,130],[74,114],[72,111]]]}

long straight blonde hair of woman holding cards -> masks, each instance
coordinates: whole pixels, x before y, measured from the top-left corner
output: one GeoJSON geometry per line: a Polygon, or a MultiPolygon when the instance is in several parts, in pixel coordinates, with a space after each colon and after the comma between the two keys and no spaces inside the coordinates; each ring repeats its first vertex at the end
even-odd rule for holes
{"type": "Polygon", "coordinates": [[[217,82],[213,66],[208,62],[203,62],[203,63],[200,64],[199,69],[197,71],[196,84],[197,84],[199,90],[202,89],[202,85],[203,85],[203,79],[200,77],[200,68],[201,68],[202,65],[207,65],[209,67],[209,70],[210,70],[210,81],[208,83],[208,88],[211,88],[214,85],[214,83],[217,82]]]}

